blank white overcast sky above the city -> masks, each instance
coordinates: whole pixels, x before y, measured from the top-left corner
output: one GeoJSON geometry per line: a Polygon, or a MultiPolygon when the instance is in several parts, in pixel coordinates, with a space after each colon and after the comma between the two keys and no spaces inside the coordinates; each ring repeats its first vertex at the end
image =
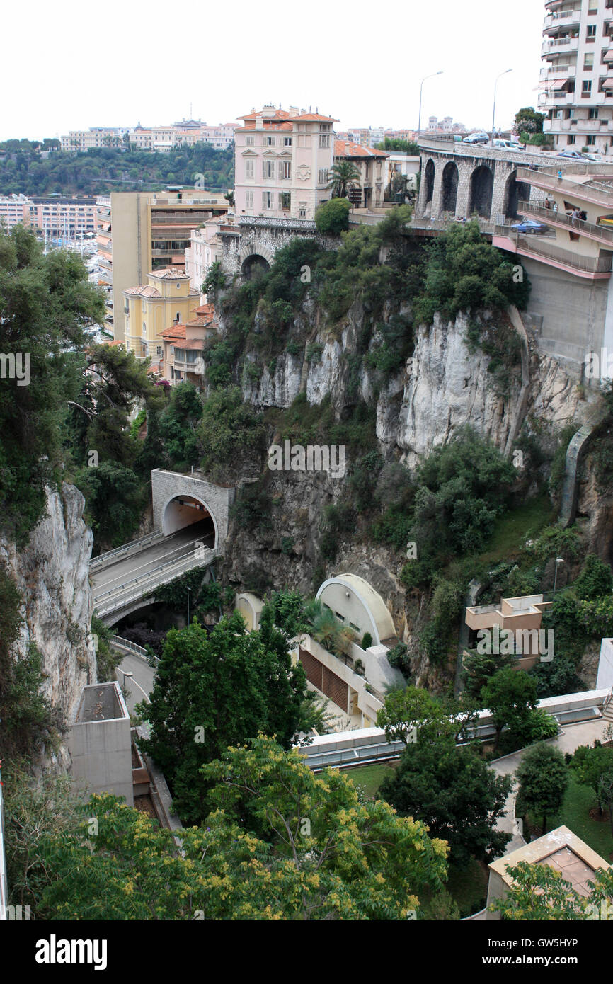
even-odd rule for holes
{"type": "Polygon", "coordinates": [[[0,140],[189,118],[229,123],[279,103],[337,130],[414,129],[430,115],[511,126],[536,105],[544,0],[31,0],[2,14],[0,140]],[[8,39],[12,41],[8,43],[8,39]],[[7,91],[6,80],[12,80],[7,91]],[[15,89],[13,90],[13,85],[15,89]]]}

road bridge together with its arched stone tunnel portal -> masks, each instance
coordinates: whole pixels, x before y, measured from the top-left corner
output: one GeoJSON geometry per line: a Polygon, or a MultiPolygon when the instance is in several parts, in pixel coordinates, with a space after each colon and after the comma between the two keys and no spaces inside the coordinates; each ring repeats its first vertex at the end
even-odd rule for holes
{"type": "Polygon", "coordinates": [[[234,489],[200,472],[152,471],[154,532],[92,560],[93,607],[108,625],[148,604],[155,588],[223,551],[234,489]]]}

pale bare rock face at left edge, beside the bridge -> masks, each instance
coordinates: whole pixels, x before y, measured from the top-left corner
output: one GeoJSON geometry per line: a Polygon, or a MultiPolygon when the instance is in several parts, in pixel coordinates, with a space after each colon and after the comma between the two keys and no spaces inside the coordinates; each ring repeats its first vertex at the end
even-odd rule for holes
{"type": "Polygon", "coordinates": [[[89,639],[92,530],[83,522],[85,500],[73,485],[47,494],[47,515],[18,550],[0,538],[0,557],[23,598],[24,618],[15,657],[31,643],[42,657],[42,692],[70,719],[82,688],[94,683],[95,651],[89,639]]]}

